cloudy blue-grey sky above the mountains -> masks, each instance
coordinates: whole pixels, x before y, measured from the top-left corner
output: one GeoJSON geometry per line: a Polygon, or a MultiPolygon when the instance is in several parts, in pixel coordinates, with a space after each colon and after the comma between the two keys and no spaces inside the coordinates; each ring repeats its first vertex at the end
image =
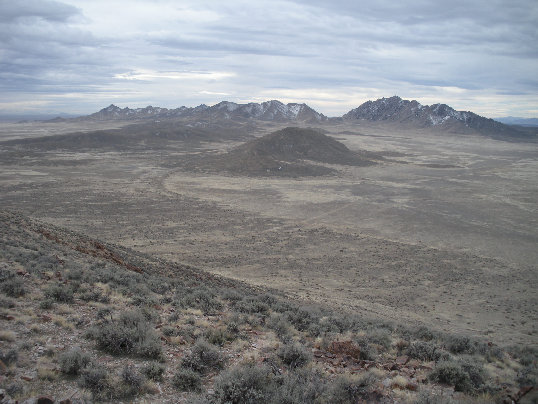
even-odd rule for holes
{"type": "Polygon", "coordinates": [[[0,115],[393,95],[538,117],[538,1],[0,0],[0,115]]]}

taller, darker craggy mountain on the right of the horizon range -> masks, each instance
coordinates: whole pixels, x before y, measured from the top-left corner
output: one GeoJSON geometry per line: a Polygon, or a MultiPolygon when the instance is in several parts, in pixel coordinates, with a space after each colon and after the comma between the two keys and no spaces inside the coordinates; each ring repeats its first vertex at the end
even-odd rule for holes
{"type": "Polygon", "coordinates": [[[433,127],[450,132],[525,136],[517,129],[469,111],[456,111],[446,104],[422,105],[394,96],[367,101],[343,116],[344,120],[394,122],[408,127],[433,127]]]}

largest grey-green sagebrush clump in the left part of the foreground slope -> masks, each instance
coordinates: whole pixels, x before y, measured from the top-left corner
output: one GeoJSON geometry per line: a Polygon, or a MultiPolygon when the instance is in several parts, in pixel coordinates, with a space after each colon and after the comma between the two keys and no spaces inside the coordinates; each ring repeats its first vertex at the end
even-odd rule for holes
{"type": "Polygon", "coordinates": [[[136,355],[143,358],[162,357],[162,345],[153,325],[140,311],[127,311],[117,320],[96,326],[89,334],[97,347],[113,355],[136,355]]]}

